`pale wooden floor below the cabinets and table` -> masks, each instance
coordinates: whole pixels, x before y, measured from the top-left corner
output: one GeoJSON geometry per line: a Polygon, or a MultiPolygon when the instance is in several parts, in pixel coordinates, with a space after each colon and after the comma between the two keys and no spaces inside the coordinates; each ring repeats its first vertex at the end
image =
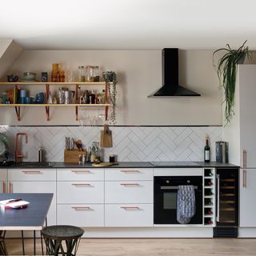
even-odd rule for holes
{"type": "MultiPolygon", "coordinates": [[[[6,239],[9,255],[22,254],[19,239],[6,239]]],[[[37,254],[42,254],[37,241],[37,254]]],[[[33,255],[32,239],[26,239],[26,254],[33,255]]],[[[80,242],[77,255],[86,256],[255,256],[256,239],[87,239],[80,242]]]]}

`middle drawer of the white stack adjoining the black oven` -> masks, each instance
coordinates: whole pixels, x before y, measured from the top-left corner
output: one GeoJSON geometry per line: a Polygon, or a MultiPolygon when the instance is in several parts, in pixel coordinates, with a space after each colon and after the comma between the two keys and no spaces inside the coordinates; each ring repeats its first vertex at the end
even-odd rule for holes
{"type": "Polygon", "coordinates": [[[153,181],[105,182],[106,203],[153,203],[153,181]]]}

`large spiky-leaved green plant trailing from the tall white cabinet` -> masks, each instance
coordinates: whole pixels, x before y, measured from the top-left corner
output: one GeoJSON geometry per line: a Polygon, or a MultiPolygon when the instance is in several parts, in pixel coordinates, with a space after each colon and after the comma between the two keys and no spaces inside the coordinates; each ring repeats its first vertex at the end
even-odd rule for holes
{"type": "MultiPolygon", "coordinates": [[[[238,48],[238,50],[232,50],[230,45],[227,44],[226,48],[220,48],[214,51],[214,54],[219,51],[226,51],[226,53],[218,60],[218,66],[214,69],[217,71],[220,87],[223,87],[226,103],[225,106],[225,119],[226,123],[230,122],[230,119],[234,115],[234,92],[235,92],[235,80],[237,74],[237,64],[242,64],[244,59],[251,58],[252,53],[249,52],[248,46],[245,46],[247,40],[238,48]]],[[[213,62],[214,62],[213,54],[213,62]]]]}

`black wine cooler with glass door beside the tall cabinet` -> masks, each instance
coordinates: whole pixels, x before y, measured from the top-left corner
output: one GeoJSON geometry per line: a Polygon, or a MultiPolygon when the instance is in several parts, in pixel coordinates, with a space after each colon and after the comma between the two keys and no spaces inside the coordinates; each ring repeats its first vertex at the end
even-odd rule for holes
{"type": "Polygon", "coordinates": [[[238,168],[216,169],[215,238],[238,236],[238,174],[238,168]]]}

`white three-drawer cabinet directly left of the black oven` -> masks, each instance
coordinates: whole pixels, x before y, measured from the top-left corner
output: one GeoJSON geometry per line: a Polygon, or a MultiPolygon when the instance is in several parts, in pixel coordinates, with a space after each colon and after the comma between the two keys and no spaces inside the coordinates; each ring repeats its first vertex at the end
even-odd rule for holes
{"type": "Polygon", "coordinates": [[[105,226],[153,226],[153,168],[105,169],[105,226]]]}

